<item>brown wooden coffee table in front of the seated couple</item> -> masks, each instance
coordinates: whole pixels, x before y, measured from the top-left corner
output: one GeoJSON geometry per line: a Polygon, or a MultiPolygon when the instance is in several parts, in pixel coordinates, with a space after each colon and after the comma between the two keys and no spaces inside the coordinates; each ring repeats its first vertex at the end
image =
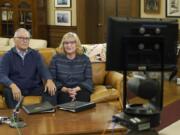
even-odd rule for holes
{"type": "MultiPolygon", "coordinates": [[[[11,116],[12,110],[0,110],[0,116],[11,116]]],[[[112,115],[117,113],[115,107],[106,103],[97,104],[95,108],[86,111],[72,113],[57,110],[55,113],[28,115],[21,110],[19,116],[23,118],[27,126],[21,128],[23,135],[101,135],[111,134],[113,124],[110,122],[112,115]]],[[[118,125],[114,133],[124,134],[126,129],[118,125]]],[[[18,134],[15,128],[9,125],[0,125],[0,135],[18,134]]]]}

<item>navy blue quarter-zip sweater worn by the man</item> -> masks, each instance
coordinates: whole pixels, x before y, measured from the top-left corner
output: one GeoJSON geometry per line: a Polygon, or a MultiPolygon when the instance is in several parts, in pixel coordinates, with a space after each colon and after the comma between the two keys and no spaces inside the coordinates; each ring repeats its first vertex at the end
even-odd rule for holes
{"type": "Polygon", "coordinates": [[[31,90],[43,85],[42,79],[52,79],[40,54],[28,48],[24,59],[12,48],[2,58],[0,82],[6,86],[15,83],[21,90],[31,90]]]}

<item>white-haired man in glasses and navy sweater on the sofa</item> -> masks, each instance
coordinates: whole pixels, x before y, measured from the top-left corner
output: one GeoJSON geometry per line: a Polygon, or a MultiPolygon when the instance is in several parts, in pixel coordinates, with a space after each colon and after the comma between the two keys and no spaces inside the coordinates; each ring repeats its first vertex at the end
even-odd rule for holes
{"type": "Polygon", "coordinates": [[[9,108],[14,108],[22,95],[42,95],[43,101],[56,104],[56,86],[40,54],[29,48],[29,40],[30,33],[19,28],[14,34],[15,47],[1,60],[0,82],[7,86],[3,94],[9,108]]]}

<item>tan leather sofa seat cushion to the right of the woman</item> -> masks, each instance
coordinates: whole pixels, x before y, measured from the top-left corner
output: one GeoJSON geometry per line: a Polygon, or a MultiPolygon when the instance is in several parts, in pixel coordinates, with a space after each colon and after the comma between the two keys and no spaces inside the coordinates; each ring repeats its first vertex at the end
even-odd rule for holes
{"type": "Polygon", "coordinates": [[[107,89],[104,85],[95,85],[94,92],[91,95],[91,101],[98,102],[107,102],[119,98],[119,93],[116,89],[110,88],[107,89]]]}

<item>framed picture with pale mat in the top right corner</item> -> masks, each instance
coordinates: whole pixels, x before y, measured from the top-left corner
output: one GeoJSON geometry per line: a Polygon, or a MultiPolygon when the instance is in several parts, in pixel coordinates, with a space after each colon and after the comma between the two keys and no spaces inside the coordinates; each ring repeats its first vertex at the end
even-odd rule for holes
{"type": "Polygon", "coordinates": [[[180,1],[179,0],[166,0],[166,16],[167,17],[180,17],[180,1]]]}

